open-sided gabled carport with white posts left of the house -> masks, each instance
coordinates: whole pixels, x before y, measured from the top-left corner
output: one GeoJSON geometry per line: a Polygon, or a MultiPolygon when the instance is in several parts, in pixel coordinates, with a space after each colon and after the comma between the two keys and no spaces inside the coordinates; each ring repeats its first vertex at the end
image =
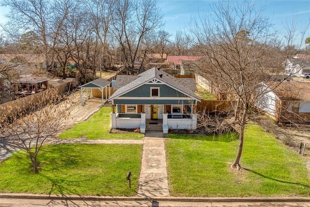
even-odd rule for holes
{"type": "Polygon", "coordinates": [[[109,88],[109,93],[110,93],[110,84],[111,82],[108,80],[104,80],[104,79],[96,79],[93,81],[90,81],[84,85],[79,86],[79,88],[81,88],[81,104],[82,106],[84,105],[84,100],[83,100],[83,91],[86,89],[86,100],[88,100],[88,89],[91,89],[91,98],[93,97],[93,89],[99,89],[101,91],[101,105],[104,105],[104,90],[106,90],[106,100],[108,100],[109,96],[108,96],[108,88],[109,88]]]}

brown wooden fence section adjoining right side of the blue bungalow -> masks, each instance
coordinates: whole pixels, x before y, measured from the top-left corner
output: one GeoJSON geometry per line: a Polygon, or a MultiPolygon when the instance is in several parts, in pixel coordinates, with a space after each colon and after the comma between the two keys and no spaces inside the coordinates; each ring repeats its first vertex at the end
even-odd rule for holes
{"type": "Polygon", "coordinates": [[[218,100],[202,100],[197,103],[197,111],[214,112],[214,111],[225,111],[230,107],[229,101],[218,101],[218,100]]]}

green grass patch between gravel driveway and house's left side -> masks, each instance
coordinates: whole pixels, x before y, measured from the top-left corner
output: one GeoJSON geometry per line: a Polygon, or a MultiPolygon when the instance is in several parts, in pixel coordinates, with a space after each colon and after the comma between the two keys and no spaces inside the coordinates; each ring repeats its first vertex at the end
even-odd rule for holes
{"type": "Polygon", "coordinates": [[[88,120],[75,124],[72,128],[62,132],[59,137],[63,139],[86,137],[87,139],[122,139],[140,140],[143,134],[140,133],[109,133],[112,112],[111,107],[102,107],[88,120]]]}

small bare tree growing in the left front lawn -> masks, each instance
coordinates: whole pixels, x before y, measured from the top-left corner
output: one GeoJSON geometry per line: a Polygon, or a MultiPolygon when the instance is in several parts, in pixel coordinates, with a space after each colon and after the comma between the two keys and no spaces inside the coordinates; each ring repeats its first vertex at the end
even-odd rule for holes
{"type": "Polygon", "coordinates": [[[39,98],[23,98],[26,101],[23,105],[28,105],[27,110],[18,101],[1,109],[3,113],[0,120],[3,139],[27,151],[34,173],[39,172],[37,156],[43,143],[59,132],[71,107],[71,102],[62,101],[63,97],[57,90],[46,90],[39,95],[39,98]]]}

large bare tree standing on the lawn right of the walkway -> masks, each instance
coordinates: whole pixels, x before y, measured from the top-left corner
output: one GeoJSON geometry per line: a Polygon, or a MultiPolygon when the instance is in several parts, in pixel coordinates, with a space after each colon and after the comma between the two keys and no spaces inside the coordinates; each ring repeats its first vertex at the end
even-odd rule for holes
{"type": "MultiPolygon", "coordinates": [[[[218,93],[231,100],[232,120],[239,132],[239,148],[231,167],[239,170],[245,126],[253,118],[251,109],[266,93],[261,84],[269,79],[266,68],[278,45],[268,18],[252,2],[218,1],[212,11],[210,16],[205,13],[193,18],[189,30],[194,48],[204,56],[199,73],[220,86],[218,93]]],[[[283,67],[276,66],[274,74],[282,74],[283,67]]]]}

